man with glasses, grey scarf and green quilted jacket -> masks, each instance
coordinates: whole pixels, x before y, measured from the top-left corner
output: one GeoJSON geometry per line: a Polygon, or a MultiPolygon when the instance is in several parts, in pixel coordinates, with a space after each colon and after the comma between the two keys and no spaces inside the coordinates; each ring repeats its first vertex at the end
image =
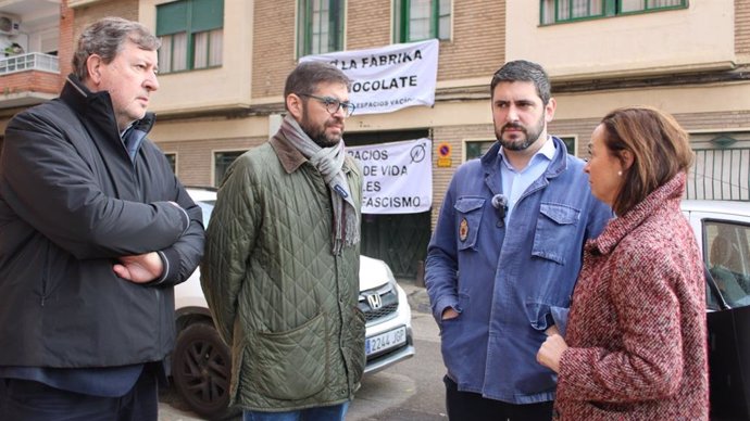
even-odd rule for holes
{"type": "Polygon", "coordinates": [[[360,386],[362,175],[341,138],[350,84],[329,64],[300,64],[278,132],[218,190],[201,284],[247,421],[343,420],[360,386]]]}

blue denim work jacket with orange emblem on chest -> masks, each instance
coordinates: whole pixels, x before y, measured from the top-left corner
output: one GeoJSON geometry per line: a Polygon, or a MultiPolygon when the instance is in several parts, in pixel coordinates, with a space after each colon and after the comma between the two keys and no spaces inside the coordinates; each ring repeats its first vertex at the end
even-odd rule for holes
{"type": "Polygon", "coordinates": [[[491,204],[502,193],[499,143],[459,167],[448,188],[425,281],[448,377],[460,391],[512,404],[554,398],[557,377],[536,354],[552,314],[571,304],[585,241],[612,212],[591,195],[583,161],[552,139],[552,162],[508,225],[491,204]],[[459,317],[441,320],[448,307],[459,317]]]}

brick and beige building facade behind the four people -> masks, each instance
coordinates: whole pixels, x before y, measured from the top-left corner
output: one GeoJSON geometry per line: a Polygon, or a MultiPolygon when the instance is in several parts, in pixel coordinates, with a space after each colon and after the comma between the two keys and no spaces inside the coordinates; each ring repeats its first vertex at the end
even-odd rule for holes
{"type": "MultiPolygon", "coordinates": [[[[16,37],[29,33],[29,51],[45,48],[32,41],[41,29],[22,4],[49,3],[0,3],[0,14],[20,22],[16,37]]],[[[493,142],[489,81],[510,60],[549,72],[558,101],[549,131],[570,153],[585,156],[607,112],[657,106],[691,133],[688,196],[750,200],[750,0],[61,0],[61,68],[49,73],[58,84],[72,39],[105,15],[138,20],[162,37],[151,138],[186,184],[200,186],[217,186],[236,156],[275,132],[284,80],[301,56],[438,38],[434,106],[347,119],[350,145],[433,140],[432,210],[363,220],[363,253],[399,276],[418,272],[455,168],[493,142]],[[438,156],[438,145],[450,152],[438,156]]],[[[0,129],[54,92],[14,85],[18,74],[30,76],[3,73],[2,60],[0,129]]]]}

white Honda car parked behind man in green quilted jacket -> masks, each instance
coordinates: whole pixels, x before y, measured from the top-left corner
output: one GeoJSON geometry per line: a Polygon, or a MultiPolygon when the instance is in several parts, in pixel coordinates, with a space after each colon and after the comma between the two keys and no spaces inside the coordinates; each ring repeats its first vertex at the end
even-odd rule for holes
{"type": "MultiPolygon", "coordinates": [[[[188,188],[208,225],[216,191],[188,188]]],[[[366,317],[365,373],[385,369],[414,355],[411,308],[385,261],[361,256],[359,307],[366,317]]],[[[229,401],[232,357],[220,339],[200,286],[200,269],[175,286],[177,342],[172,354],[175,387],[190,408],[215,418],[229,401]]]]}

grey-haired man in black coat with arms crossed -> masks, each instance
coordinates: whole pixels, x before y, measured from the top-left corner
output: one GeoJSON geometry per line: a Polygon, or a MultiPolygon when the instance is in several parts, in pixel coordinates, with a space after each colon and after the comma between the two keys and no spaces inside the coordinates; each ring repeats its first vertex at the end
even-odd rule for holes
{"type": "Polygon", "coordinates": [[[173,286],[200,208],[146,138],[159,39],[103,18],[60,98],[16,115],[0,156],[0,413],[157,420],[173,286]]]}

